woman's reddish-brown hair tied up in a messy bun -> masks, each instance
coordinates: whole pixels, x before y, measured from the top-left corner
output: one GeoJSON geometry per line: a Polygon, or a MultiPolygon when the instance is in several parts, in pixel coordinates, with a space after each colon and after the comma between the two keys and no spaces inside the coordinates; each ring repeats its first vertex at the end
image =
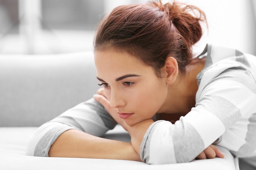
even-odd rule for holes
{"type": "Polygon", "coordinates": [[[119,6],[99,24],[94,50],[127,52],[152,66],[158,77],[171,56],[184,72],[192,60],[192,45],[202,36],[200,21],[206,22],[203,11],[177,2],[119,6]]]}

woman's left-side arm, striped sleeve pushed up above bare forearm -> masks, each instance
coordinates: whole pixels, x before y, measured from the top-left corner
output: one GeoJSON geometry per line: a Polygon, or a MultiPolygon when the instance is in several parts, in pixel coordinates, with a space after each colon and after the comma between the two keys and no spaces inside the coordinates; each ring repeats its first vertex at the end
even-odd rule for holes
{"type": "Polygon", "coordinates": [[[116,124],[103,106],[90,99],[40,126],[29,140],[26,154],[140,160],[131,144],[100,138],[116,124]]]}

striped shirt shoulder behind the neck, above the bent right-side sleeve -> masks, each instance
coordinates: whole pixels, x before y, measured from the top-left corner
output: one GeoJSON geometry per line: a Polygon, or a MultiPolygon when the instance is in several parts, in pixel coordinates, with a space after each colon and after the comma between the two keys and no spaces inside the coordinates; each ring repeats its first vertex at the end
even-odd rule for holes
{"type": "Polygon", "coordinates": [[[254,80],[256,79],[256,56],[212,44],[208,44],[206,48],[206,62],[197,76],[198,84],[201,84],[202,80],[210,81],[229,69],[246,70],[254,80]]]}

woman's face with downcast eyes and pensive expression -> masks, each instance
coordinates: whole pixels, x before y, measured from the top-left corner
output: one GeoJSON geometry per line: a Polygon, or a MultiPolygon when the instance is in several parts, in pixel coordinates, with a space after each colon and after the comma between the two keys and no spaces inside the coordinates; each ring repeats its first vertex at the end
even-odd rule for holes
{"type": "Polygon", "coordinates": [[[94,60],[110,106],[126,124],[150,119],[164,104],[168,85],[151,66],[128,53],[110,50],[95,51],[94,60]]]}

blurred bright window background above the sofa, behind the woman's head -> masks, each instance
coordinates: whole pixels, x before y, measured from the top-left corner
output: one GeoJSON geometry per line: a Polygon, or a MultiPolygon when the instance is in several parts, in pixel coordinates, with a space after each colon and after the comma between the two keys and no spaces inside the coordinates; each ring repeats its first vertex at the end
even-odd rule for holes
{"type": "MultiPolygon", "coordinates": [[[[166,2],[166,0],[162,0],[166,2]]],[[[207,42],[256,55],[256,0],[179,0],[200,7],[207,42]]],[[[98,22],[121,4],[147,0],[0,0],[0,54],[93,50],[98,22]]]]}

